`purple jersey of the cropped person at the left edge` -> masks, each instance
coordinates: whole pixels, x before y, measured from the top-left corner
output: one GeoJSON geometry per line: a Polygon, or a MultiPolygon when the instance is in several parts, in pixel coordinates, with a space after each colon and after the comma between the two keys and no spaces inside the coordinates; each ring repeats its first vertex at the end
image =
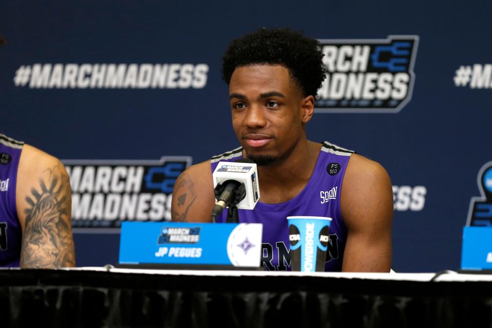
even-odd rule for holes
{"type": "Polygon", "coordinates": [[[15,186],[24,142],[0,134],[0,267],[18,267],[22,229],[17,217],[15,186]]]}

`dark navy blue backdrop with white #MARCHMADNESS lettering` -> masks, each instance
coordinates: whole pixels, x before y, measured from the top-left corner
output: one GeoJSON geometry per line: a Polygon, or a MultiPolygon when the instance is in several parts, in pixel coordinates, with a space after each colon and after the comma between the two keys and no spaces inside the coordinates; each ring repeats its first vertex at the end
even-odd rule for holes
{"type": "MultiPolygon", "coordinates": [[[[84,170],[88,160],[103,160],[93,163],[111,174],[125,165],[111,160],[148,160],[145,177],[172,181],[178,167],[150,176],[151,161],[197,163],[238,146],[220,79],[233,37],[284,26],[345,43],[417,36],[414,88],[398,113],[318,112],[308,137],[354,149],[388,171],[395,270],[458,269],[469,201],[480,195],[477,174],[491,159],[484,142],[491,13],[490,2],[421,0],[1,1],[0,131],[84,170]]],[[[137,165],[127,162],[126,169],[137,165]]],[[[169,192],[146,186],[164,195],[156,207],[169,212],[169,192]]],[[[86,189],[78,197],[95,199],[86,189]]],[[[78,265],[115,263],[119,235],[92,229],[100,233],[75,231],[78,265]]]]}

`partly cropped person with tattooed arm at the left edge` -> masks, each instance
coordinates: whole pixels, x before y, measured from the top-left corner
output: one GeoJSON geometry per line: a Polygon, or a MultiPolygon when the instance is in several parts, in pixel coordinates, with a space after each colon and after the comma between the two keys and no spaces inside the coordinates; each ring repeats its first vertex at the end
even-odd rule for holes
{"type": "Polygon", "coordinates": [[[57,158],[0,134],[0,267],[74,267],[71,197],[57,158]]]}

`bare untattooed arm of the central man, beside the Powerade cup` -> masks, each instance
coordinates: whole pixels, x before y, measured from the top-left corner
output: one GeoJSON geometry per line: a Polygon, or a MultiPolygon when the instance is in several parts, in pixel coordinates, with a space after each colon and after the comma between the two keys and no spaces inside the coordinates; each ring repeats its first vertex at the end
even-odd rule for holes
{"type": "Polygon", "coordinates": [[[393,191],[376,162],[352,155],[343,178],[341,212],[347,227],[342,271],[389,272],[393,191]]]}

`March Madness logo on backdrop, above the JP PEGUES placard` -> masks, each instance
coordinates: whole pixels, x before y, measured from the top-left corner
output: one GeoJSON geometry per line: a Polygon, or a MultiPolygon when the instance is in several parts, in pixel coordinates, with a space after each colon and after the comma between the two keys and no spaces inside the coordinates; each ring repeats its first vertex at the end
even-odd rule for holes
{"type": "Polygon", "coordinates": [[[174,183],[191,157],[63,163],[72,187],[72,227],[119,228],[121,221],[170,221],[174,183]]]}

